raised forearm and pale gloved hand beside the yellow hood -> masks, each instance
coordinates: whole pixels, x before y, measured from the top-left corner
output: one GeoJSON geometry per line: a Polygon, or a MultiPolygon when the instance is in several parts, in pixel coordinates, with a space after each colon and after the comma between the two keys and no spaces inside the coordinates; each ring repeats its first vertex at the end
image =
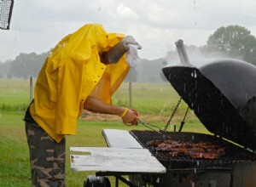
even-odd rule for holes
{"type": "Polygon", "coordinates": [[[117,63],[121,56],[123,56],[127,51],[130,50],[131,45],[137,46],[137,49],[142,48],[142,46],[135,41],[134,37],[127,36],[108,51],[108,62],[110,64],[117,63]]]}

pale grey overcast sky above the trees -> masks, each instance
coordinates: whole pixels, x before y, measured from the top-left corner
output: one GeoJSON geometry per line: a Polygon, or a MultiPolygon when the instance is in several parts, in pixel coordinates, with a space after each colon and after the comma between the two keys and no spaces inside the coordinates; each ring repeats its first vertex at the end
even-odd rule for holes
{"type": "Polygon", "coordinates": [[[244,26],[256,36],[255,0],[15,0],[10,30],[0,30],[0,61],[41,54],[84,26],[137,39],[142,59],[158,59],[183,39],[202,46],[220,26],[244,26]]]}

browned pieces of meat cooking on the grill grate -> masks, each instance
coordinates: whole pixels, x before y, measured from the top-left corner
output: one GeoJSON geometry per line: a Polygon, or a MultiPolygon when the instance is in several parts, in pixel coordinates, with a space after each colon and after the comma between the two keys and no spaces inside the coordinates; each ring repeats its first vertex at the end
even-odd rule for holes
{"type": "Polygon", "coordinates": [[[169,156],[190,156],[195,159],[217,159],[224,156],[224,148],[210,142],[188,143],[174,140],[152,140],[147,142],[148,147],[155,150],[167,151],[169,156]]]}

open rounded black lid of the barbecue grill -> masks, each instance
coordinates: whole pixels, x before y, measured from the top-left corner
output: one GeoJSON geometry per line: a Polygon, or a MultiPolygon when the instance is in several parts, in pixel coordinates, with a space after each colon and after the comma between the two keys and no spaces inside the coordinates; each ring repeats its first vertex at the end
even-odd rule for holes
{"type": "Polygon", "coordinates": [[[256,67],[236,59],[196,68],[167,66],[164,75],[205,127],[256,150],[256,67]]]}

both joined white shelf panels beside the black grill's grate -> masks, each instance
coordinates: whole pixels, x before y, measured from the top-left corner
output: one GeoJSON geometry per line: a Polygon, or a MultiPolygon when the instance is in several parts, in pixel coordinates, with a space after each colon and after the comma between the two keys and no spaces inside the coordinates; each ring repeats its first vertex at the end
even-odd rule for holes
{"type": "Polygon", "coordinates": [[[73,171],[166,173],[166,167],[128,131],[104,129],[102,133],[109,147],[70,147],[73,171]]]}

